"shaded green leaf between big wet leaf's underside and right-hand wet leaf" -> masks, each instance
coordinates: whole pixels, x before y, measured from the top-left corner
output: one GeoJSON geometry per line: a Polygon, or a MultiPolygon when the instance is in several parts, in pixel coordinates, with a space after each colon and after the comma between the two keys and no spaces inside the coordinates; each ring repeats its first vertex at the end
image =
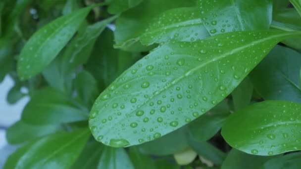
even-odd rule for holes
{"type": "Polygon", "coordinates": [[[220,130],[229,115],[228,103],[226,101],[220,102],[201,115],[201,117],[188,124],[190,136],[200,142],[207,141],[220,130]]]}

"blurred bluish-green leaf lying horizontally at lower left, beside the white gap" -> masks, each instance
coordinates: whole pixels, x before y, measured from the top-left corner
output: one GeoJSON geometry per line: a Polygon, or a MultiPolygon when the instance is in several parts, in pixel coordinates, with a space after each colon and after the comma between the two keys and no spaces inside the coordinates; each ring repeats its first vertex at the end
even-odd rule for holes
{"type": "Polygon", "coordinates": [[[59,126],[33,126],[22,121],[18,121],[7,128],[6,139],[9,144],[20,144],[59,130],[61,130],[61,127],[59,126]]]}

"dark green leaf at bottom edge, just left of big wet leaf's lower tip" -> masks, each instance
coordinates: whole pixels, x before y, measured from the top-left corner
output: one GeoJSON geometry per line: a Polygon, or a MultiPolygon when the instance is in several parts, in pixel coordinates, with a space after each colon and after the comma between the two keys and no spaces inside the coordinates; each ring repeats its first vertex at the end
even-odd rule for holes
{"type": "Polygon", "coordinates": [[[96,169],[103,145],[97,141],[88,142],[70,169],[96,169]]]}

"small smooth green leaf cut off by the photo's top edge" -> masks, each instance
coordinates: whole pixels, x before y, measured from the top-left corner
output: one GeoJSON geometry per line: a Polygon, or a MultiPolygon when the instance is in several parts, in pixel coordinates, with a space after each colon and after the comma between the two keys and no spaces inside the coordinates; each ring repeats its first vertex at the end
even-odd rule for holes
{"type": "Polygon", "coordinates": [[[142,1],[143,0],[111,0],[107,10],[111,14],[117,14],[137,6],[142,1]]]}

